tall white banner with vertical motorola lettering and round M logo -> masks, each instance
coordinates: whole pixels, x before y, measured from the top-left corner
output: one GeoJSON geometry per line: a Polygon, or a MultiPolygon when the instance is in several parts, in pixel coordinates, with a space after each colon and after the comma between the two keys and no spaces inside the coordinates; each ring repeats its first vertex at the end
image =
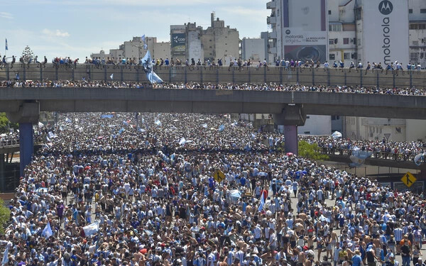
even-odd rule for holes
{"type": "MultiPolygon", "coordinates": [[[[363,1],[363,60],[409,62],[408,0],[363,1]]],[[[366,62],[364,62],[365,64],[366,62]]]]}

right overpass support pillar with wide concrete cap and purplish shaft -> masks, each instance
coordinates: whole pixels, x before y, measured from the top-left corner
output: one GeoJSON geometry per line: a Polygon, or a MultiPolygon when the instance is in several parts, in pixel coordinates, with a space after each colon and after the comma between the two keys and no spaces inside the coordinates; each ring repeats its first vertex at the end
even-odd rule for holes
{"type": "Polygon", "coordinates": [[[303,112],[303,106],[297,104],[289,104],[285,106],[282,113],[273,115],[275,125],[284,126],[286,153],[298,153],[297,126],[305,125],[306,114],[303,112]]]}

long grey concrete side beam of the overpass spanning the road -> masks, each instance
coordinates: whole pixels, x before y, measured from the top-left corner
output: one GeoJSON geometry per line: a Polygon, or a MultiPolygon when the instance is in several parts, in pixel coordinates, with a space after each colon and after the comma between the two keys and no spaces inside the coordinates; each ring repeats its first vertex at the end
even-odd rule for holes
{"type": "MultiPolygon", "coordinates": [[[[4,88],[0,111],[274,113],[426,119],[426,96],[214,89],[4,88]],[[26,107],[31,109],[27,109],[26,107]]],[[[13,117],[12,117],[13,118],[13,117]]],[[[15,119],[18,120],[19,119],[15,119]]]]}

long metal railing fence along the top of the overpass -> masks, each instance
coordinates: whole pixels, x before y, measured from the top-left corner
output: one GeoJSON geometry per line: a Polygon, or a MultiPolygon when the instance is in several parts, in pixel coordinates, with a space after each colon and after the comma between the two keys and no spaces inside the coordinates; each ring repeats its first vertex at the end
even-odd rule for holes
{"type": "MultiPolygon", "coordinates": [[[[155,73],[164,82],[200,83],[270,83],[359,87],[418,87],[426,86],[423,70],[335,70],[331,68],[285,67],[204,67],[183,65],[158,66],[155,73]]],[[[99,80],[115,82],[148,82],[139,65],[6,65],[0,70],[0,82],[24,80],[99,80]]]]}

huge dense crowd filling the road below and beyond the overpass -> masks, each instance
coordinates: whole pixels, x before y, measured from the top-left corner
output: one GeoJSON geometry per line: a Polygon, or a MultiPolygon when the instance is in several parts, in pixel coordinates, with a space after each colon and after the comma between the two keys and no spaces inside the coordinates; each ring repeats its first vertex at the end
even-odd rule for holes
{"type": "Polygon", "coordinates": [[[250,123],[75,113],[40,132],[2,265],[422,266],[423,194],[285,154],[250,123]]]}

